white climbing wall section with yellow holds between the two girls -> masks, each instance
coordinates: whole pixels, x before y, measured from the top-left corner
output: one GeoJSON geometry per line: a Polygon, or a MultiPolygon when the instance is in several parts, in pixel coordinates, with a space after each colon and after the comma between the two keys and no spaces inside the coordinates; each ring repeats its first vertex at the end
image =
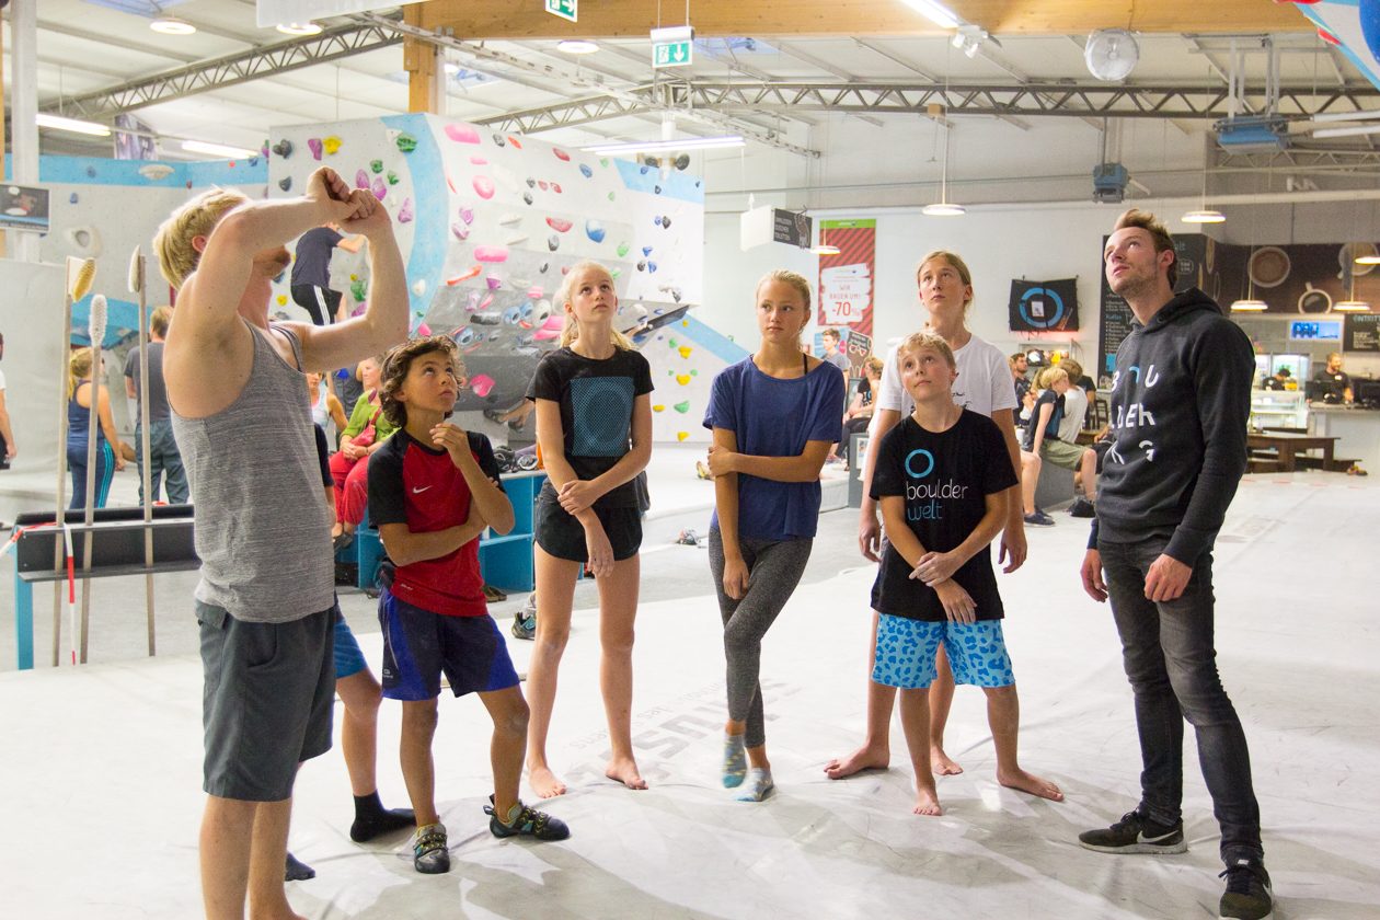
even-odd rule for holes
{"type": "Polygon", "coordinates": [[[656,441],[708,444],[704,411],[709,404],[709,385],[729,364],[741,361],[748,352],[684,314],[657,328],[647,337],[642,353],[651,364],[651,437],[656,441]]]}

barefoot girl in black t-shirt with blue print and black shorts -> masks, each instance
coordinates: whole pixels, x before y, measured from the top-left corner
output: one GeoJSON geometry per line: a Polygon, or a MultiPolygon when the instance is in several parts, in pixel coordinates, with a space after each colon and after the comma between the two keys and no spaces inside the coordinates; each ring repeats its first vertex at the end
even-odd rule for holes
{"type": "Polygon", "coordinates": [[[586,563],[599,586],[599,673],[613,745],[604,774],[629,789],[647,788],[632,754],[632,623],[642,546],[633,480],[651,458],[651,368],[614,328],[618,295],[609,269],[574,265],[556,302],[566,310],[560,348],[541,359],[527,389],[548,476],[535,508],[541,615],[527,673],[527,779],[542,799],[566,792],[546,763],[546,730],[575,579],[586,563]]]}

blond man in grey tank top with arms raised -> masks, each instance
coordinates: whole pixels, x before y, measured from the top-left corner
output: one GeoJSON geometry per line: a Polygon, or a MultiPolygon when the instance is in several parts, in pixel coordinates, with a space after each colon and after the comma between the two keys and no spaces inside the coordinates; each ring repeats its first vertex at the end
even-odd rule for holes
{"type": "Polygon", "coordinates": [[[353,364],[407,337],[407,286],[392,221],[368,192],[320,168],[297,199],[211,189],[159,228],[159,268],[178,290],[163,354],[203,560],[196,589],[206,670],[206,916],[295,916],[283,862],[297,763],[330,748],[331,553],[308,368],[353,364]],[[269,326],[284,243],[326,221],[368,239],[367,312],[330,327],[269,326]]]}

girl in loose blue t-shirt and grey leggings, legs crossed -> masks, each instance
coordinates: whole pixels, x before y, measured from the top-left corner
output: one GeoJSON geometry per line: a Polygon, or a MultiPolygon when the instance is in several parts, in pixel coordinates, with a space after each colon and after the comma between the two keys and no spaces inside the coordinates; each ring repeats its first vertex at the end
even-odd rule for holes
{"type": "Polygon", "coordinates": [[[755,297],[762,345],[713,378],[704,417],[713,430],[709,567],[727,657],[723,785],[742,786],[741,801],[762,801],[774,788],[758,681],[762,637],[810,559],[820,469],[843,428],[843,377],[800,352],[810,283],[777,270],[755,297]]]}

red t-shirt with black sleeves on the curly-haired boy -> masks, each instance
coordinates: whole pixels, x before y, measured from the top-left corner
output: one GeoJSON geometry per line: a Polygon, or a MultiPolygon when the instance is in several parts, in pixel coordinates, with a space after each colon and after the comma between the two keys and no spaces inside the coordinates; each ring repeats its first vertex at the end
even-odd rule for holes
{"type": "MultiPolygon", "coordinates": [[[[468,433],[469,451],[484,476],[498,481],[498,462],[489,439],[468,433]]],[[[375,527],[407,524],[414,534],[458,527],[469,517],[469,486],[450,454],[421,444],[406,430],[393,432],[368,458],[368,517],[375,527]]],[[[484,579],[479,574],[479,539],[453,553],[397,566],[393,597],[446,617],[484,617],[484,579]]]]}

